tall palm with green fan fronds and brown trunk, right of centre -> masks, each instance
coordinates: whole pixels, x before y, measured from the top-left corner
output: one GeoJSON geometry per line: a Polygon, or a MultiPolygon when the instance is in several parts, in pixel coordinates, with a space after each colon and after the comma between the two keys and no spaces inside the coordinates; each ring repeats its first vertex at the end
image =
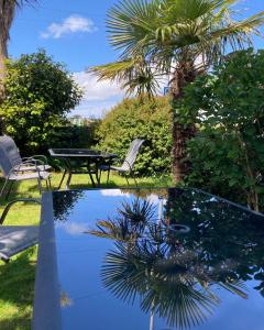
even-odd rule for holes
{"type": "MultiPolygon", "coordinates": [[[[231,48],[251,43],[251,34],[264,22],[264,11],[245,20],[232,19],[238,0],[123,0],[108,12],[111,45],[121,51],[116,63],[90,68],[99,79],[114,79],[129,94],[154,95],[158,78],[170,77],[173,103],[184,87],[219,62],[231,48]]],[[[186,142],[193,124],[173,118],[173,175],[188,173],[186,142]]]]}

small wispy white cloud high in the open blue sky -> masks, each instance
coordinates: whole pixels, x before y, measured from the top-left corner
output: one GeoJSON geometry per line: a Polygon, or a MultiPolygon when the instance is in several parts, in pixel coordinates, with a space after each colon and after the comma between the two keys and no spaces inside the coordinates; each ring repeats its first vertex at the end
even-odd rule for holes
{"type": "Polygon", "coordinates": [[[87,18],[73,14],[65,19],[62,23],[52,23],[46,31],[41,34],[43,38],[59,38],[65,34],[77,32],[92,33],[97,31],[95,23],[87,18]]]}

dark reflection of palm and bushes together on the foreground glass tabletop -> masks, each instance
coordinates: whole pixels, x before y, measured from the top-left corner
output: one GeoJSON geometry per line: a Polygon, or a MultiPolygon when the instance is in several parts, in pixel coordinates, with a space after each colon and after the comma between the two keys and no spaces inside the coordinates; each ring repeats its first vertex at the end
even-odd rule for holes
{"type": "Polygon", "coordinates": [[[248,298],[249,278],[260,279],[256,289],[263,293],[264,218],[235,211],[209,195],[189,194],[168,189],[162,219],[155,216],[156,206],[135,197],[121,204],[117,217],[98,221],[89,231],[116,241],[102,265],[103,285],[123,301],[140,299],[151,324],[157,315],[168,327],[198,326],[220,304],[217,288],[248,298]],[[177,223],[189,230],[175,230],[177,223]]]}

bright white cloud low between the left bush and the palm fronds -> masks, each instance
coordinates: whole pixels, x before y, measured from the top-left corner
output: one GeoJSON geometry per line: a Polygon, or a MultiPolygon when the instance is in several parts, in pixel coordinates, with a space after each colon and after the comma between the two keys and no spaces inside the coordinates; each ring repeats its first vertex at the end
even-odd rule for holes
{"type": "Polygon", "coordinates": [[[94,75],[86,72],[75,73],[74,79],[84,90],[84,98],[72,114],[100,118],[124,97],[118,84],[97,81],[94,75]]]}

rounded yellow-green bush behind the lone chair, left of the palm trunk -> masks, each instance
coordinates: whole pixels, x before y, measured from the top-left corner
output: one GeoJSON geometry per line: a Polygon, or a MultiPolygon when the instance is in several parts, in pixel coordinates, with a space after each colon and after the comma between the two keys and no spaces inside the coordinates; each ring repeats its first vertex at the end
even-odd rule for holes
{"type": "Polygon", "coordinates": [[[125,156],[130,142],[142,138],[145,143],[136,160],[141,175],[170,169],[170,107],[167,98],[125,99],[108,112],[97,130],[98,147],[125,156]]]}

